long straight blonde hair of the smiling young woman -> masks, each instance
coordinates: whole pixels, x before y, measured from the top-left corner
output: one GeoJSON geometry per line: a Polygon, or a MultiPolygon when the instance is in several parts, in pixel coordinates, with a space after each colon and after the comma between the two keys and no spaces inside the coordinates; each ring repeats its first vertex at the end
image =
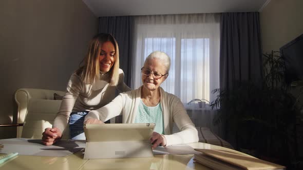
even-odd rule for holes
{"type": "Polygon", "coordinates": [[[110,82],[109,86],[117,86],[119,81],[119,48],[116,39],[108,33],[100,33],[95,35],[89,44],[87,54],[85,58],[81,61],[80,65],[83,63],[76,72],[87,84],[92,84],[96,78],[100,78],[100,63],[99,55],[101,52],[101,46],[104,42],[110,41],[115,47],[115,62],[109,70],[110,82]]]}

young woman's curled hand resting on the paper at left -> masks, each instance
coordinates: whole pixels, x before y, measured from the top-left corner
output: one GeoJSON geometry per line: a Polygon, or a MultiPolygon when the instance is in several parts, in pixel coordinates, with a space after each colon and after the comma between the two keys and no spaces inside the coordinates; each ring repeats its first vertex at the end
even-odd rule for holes
{"type": "Polygon", "coordinates": [[[62,137],[62,132],[58,128],[46,128],[42,133],[42,143],[52,145],[62,137]]]}

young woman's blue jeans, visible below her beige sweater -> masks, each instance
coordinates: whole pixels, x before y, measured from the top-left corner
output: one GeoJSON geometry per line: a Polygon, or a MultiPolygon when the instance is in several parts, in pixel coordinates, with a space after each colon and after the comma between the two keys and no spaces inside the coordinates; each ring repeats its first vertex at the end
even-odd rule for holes
{"type": "Polygon", "coordinates": [[[73,140],[85,140],[83,121],[88,111],[71,112],[69,117],[69,135],[73,140]]]}

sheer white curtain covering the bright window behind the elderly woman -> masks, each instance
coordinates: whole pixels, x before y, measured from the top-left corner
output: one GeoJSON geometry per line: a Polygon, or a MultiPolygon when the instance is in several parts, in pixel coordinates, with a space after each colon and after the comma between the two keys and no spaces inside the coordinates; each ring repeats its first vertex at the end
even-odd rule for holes
{"type": "MultiPolygon", "coordinates": [[[[171,70],[161,87],[183,103],[212,101],[219,88],[220,14],[135,16],[131,87],[141,82],[141,67],[153,51],[171,57],[171,70]]],[[[207,103],[207,102],[206,102],[207,103]]]]}

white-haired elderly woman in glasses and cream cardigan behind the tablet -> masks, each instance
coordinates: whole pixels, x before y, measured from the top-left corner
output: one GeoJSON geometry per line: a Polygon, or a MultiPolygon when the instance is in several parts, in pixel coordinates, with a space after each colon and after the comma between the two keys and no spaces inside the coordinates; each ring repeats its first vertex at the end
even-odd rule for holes
{"type": "Polygon", "coordinates": [[[104,107],[90,111],[84,122],[103,123],[122,114],[123,123],[156,123],[150,138],[153,149],[158,145],[197,142],[198,132],[181,100],[160,87],[170,66],[171,60],[165,53],[151,53],[141,69],[143,86],[121,93],[104,107]],[[174,122],[180,132],[172,134],[174,122]]]}

